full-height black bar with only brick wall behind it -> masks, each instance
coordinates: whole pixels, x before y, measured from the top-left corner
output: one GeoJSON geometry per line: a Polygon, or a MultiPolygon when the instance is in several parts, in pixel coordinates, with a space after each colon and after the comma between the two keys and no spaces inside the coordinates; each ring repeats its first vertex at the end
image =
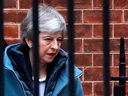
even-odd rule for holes
{"type": "Polygon", "coordinates": [[[109,69],[109,0],[103,0],[104,96],[110,96],[109,69]]]}

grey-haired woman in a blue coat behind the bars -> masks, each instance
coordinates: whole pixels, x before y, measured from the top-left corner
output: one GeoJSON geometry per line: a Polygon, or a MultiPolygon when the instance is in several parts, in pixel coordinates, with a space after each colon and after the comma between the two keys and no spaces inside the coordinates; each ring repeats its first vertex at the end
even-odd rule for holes
{"type": "MultiPolygon", "coordinates": [[[[68,56],[61,43],[66,33],[64,18],[52,7],[39,4],[39,86],[40,96],[68,96],[68,56]]],[[[4,52],[5,96],[32,96],[33,90],[32,9],[21,23],[22,43],[4,52]]],[[[76,96],[83,96],[75,67],[76,96]]]]}

